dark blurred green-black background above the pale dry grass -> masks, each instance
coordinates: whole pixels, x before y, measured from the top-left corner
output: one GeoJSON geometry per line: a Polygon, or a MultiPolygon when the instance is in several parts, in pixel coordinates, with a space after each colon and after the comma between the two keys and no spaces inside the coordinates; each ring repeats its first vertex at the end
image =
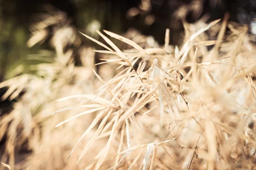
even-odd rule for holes
{"type": "Polygon", "coordinates": [[[29,48],[26,42],[31,36],[29,26],[41,19],[38,14],[53,8],[62,11],[77,31],[90,36],[96,36],[96,29],[122,35],[135,28],[163,44],[165,30],[169,28],[170,44],[179,44],[183,18],[195,22],[205,16],[209,21],[230,12],[230,20],[246,24],[255,15],[256,3],[255,0],[1,0],[0,80],[11,78],[10,71],[19,64],[26,68],[32,62],[27,60],[28,55],[50,49],[47,43],[29,48]]]}

